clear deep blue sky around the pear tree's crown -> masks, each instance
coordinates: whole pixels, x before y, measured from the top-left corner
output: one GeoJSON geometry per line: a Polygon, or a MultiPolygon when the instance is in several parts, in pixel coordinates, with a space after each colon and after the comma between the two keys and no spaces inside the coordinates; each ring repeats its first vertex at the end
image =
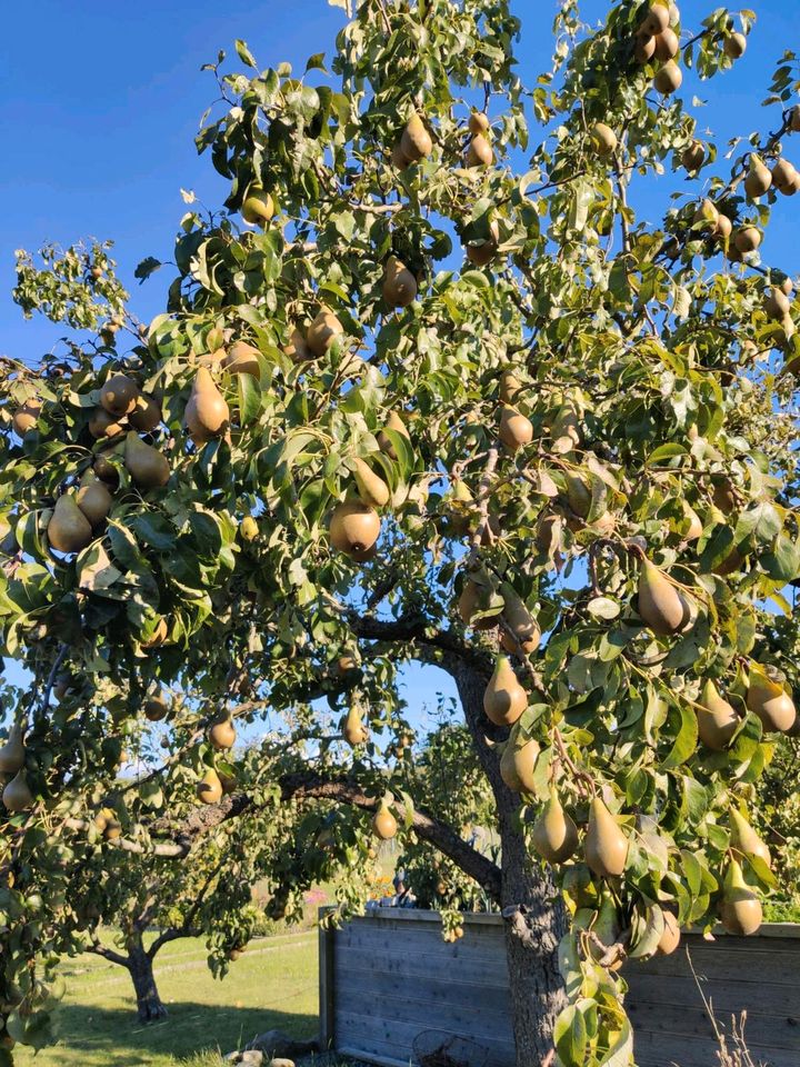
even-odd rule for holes
{"type": "MultiPolygon", "coordinates": [[[[751,130],[774,129],[779,109],[760,107],[770,76],[786,48],[800,47],[800,6],[794,0],[753,0],[759,21],[747,54],[711,83],[687,77],[683,96],[706,101],[697,108],[701,130],[727,140],[751,130]]],[[[520,72],[533,82],[548,64],[554,0],[514,4],[524,16],[520,72]]],[[[686,27],[694,29],[712,2],[681,4],[686,27]]],[[[593,19],[607,9],[588,0],[593,19]]],[[[208,157],[199,158],[193,137],[214,96],[204,62],[233,40],[244,38],[259,67],[282,60],[302,70],[308,56],[330,51],[343,12],[326,0],[34,0],[8,4],[0,40],[0,352],[36,361],[59,331],[46,322],[24,322],[10,299],[13,250],[33,250],[48,240],[68,245],[80,238],[112,238],[120,275],[132,292],[132,309],[147,320],[162,310],[169,271],[143,287],[133,269],[146,256],[169,259],[177,222],[186,207],[180,189],[206,203],[219,203],[223,182],[208,157]]],[[[536,136],[536,134],[533,134],[536,136]]],[[[800,166],[800,134],[787,154],[800,166]]],[[[653,219],[676,179],[633,192],[653,219]]],[[[783,200],[763,245],[764,259],[797,273],[800,197],[783,200]]],[[[412,704],[434,690],[451,692],[440,671],[412,670],[412,704]]]]}

